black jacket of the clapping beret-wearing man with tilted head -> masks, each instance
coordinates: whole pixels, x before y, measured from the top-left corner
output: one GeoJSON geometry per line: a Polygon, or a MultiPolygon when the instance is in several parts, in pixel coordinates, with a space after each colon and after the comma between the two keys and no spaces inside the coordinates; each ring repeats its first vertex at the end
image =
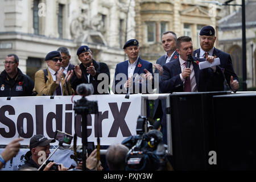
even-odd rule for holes
{"type": "MultiPolygon", "coordinates": [[[[98,84],[100,84],[101,81],[104,81],[104,80],[98,80],[98,75],[100,75],[100,73],[106,73],[106,75],[108,75],[108,85],[110,84],[109,67],[108,67],[108,65],[106,65],[106,63],[100,63],[95,60],[93,60],[92,62],[93,62],[93,66],[96,70],[96,75],[94,77],[92,75],[90,75],[90,84],[93,84],[93,88],[94,88],[93,94],[108,94],[107,91],[109,91],[109,86],[108,86],[108,88],[102,88],[102,89],[104,89],[104,93],[98,93],[97,88],[98,88],[98,84]]],[[[79,66],[82,71],[81,79],[77,78],[75,73],[71,78],[71,86],[75,91],[76,91],[77,85],[80,85],[82,83],[88,84],[86,68],[84,67],[84,65],[82,63],[79,66]]]]}

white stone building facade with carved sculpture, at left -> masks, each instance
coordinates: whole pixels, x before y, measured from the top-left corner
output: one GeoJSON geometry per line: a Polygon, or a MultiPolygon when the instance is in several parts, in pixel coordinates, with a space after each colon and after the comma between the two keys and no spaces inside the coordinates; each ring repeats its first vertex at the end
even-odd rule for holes
{"type": "Polygon", "coordinates": [[[6,55],[19,56],[19,68],[34,78],[46,68],[44,57],[67,47],[71,63],[80,64],[76,51],[92,49],[105,62],[113,80],[115,65],[125,59],[125,39],[135,37],[133,0],[0,0],[0,71],[6,55]],[[129,27],[129,28],[126,28],[129,27]],[[126,31],[129,30],[129,31],[126,31]]]}

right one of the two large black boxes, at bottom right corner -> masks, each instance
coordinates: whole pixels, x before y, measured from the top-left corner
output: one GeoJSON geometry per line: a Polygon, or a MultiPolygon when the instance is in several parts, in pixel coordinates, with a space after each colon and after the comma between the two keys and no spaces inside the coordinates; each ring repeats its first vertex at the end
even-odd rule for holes
{"type": "Polygon", "coordinates": [[[213,97],[217,169],[256,169],[256,94],[213,97]]]}

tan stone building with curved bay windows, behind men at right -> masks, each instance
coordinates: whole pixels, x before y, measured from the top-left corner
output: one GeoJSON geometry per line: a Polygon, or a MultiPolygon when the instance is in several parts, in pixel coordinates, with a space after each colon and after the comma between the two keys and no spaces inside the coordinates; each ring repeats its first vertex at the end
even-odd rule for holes
{"type": "Polygon", "coordinates": [[[165,31],[174,31],[177,37],[191,36],[193,47],[199,48],[202,27],[211,25],[218,30],[220,10],[220,6],[196,0],[136,0],[136,36],[142,42],[141,56],[155,63],[164,55],[161,37],[165,31]]]}

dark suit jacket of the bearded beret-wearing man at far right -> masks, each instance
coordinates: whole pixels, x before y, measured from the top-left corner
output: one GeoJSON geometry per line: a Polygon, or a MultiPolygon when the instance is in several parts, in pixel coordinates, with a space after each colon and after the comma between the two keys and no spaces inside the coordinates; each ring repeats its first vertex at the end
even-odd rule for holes
{"type": "MultiPolygon", "coordinates": [[[[200,56],[200,48],[196,49],[196,51],[194,51],[193,55],[194,56],[197,55],[197,57],[199,57],[200,56]]],[[[213,56],[220,58],[220,63],[221,63],[220,67],[222,68],[222,71],[224,71],[226,82],[228,83],[228,85],[230,87],[230,76],[233,76],[234,80],[238,81],[238,77],[237,77],[236,73],[234,72],[231,56],[226,52],[216,49],[215,47],[213,49],[213,56]]]]}

